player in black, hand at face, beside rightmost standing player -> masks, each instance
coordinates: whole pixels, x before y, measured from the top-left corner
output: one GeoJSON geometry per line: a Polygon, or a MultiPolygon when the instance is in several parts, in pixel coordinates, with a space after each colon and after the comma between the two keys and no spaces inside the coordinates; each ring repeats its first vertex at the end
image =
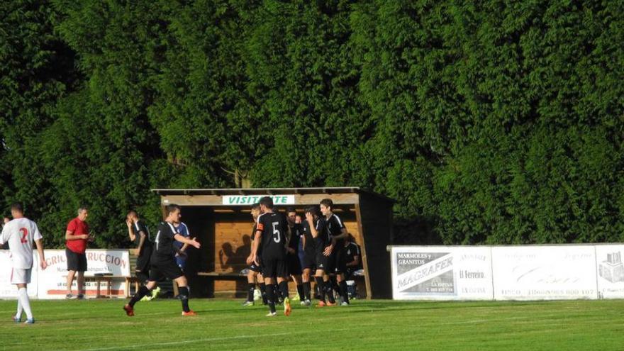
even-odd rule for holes
{"type": "MultiPolygon", "coordinates": [[[[325,229],[325,220],[318,216],[318,210],[316,207],[310,207],[306,210],[306,221],[308,221],[308,228],[314,241],[314,247],[316,249],[316,272],[314,279],[316,279],[316,286],[320,294],[320,301],[318,301],[318,307],[323,306],[335,306],[335,300],[333,293],[331,292],[331,284],[329,282],[329,272],[333,272],[334,260],[331,257],[332,247],[329,233],[325,229]],[[325,302],[325,298],[327,301],[325,302]]],[[[308,243],[306,243],[308,245],[308,243]]]]}

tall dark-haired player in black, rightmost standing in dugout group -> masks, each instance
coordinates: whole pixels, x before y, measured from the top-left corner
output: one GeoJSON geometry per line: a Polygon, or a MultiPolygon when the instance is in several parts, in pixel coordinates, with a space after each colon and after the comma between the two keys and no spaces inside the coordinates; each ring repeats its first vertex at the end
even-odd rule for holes
{"type": "Polygon", "coordinates": [[[347,262],[345,261],[345,238],[347,238],[347,228],[345,223],[333,213],[334,203],[331,199],[321,200],[321,213],[325,217],[325,225],[331,238],[330,260],[334,260],[333,267],[336,274],[336,280],[340,287],[340,297],[342,303],[340,306],[349,306],[349,295],[347,294],[347,281],[345,280],[345,272],[347,272],[347,262]]]}

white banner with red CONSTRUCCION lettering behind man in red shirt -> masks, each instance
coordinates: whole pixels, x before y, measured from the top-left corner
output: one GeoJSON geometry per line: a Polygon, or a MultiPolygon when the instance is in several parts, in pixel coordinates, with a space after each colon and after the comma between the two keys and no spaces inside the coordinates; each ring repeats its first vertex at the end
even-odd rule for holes
{"type": "MultiPolygon", "coordinates": [[[[87,297],[96,295],[94,274],[111,274],[114,276],[130,276],[130,262],[128,250],[87,250],[87,272],[84,289],[87,297]]],[[[67,260],[65,250],[45,250],[45,260],[48,269],[39,272],[39,299],[65,299],[67,294],[67,260]]],[[[74,295],[77,294],[76,281],[72,285],[74,295]]],[[[106,283],[100,284],[102,294],[106,292],[106,283]]],[[[114,279],[111,286],[113,296],[125,296],[126,284],[120,279],[114,279]]]]}

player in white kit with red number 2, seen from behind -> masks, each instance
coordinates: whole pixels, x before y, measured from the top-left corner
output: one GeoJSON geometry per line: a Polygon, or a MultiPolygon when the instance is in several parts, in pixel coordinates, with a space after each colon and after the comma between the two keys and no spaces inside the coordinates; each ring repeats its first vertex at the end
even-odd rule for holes
{"type": "Polygon", "coordinates": [[[30,283],[30,273],[33,269],[33,241],[37,245],[41,269],[48,267],[43,255],[43,238],[39,233],[37,224],[24,217],[21,204],[11,206],[11,216],[13,221],[6,223],[0,234],[0,245],[9,243],[11,251],[11,284],[17,285],[18,300],[17,314],[13,316],[13,321],[21,322],[22,311],[26,312],[26,324],[35,323],[33,311],[30,310],[30,299],[26,286],[30,283]]]}

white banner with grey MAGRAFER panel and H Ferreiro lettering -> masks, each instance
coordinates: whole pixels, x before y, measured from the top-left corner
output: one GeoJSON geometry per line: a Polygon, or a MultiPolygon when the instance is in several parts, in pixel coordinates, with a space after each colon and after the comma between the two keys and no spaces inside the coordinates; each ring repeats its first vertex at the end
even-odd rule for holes
{"type": "Polygon", "coordinates": [[[490,247],[395,246],[394,299],[491,300],[490,247]]]}

